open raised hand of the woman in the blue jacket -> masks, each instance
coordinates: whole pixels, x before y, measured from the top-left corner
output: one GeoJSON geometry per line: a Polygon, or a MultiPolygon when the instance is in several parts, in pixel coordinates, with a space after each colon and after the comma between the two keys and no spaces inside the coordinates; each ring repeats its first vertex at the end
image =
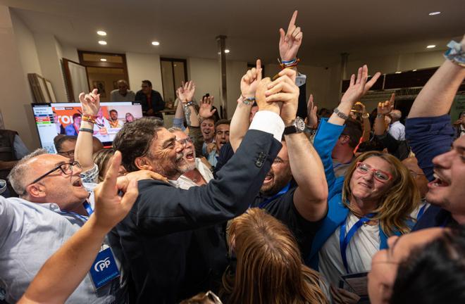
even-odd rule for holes
{"type": "Polygon", "coordinates": [[[341,103],[350,103],[351,105],[354,105],[356,101],[359,101],[361,97],[364,96],[371,87],[373,87],[373,84],[375,84],[380,75],[380,72],[376,72],[376,74],[371,77],[371,80],[366,82],[368,80],[368,67],[364,65],[359,68],[356,78],[354,74],[350,77],[349,88],[342,96],[341,103]]]}

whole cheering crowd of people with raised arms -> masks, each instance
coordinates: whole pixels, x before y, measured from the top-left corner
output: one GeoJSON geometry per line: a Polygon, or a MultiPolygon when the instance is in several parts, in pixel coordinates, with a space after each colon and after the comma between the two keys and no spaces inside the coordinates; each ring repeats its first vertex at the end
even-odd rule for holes
{"type": "Polygon", "coordinates": [[[77,136],[10,165],[0,302],[465,303],[465,113],[448,114],[465,37],[403,124],[395,94],[368,115],[366,65],[333,111],[306,103],[296,19],[282,70],[257,60],[231,120],[189,81],[164,125],[151,83],[121,81],[112,98],[142,96],[146,115],[104,148],[98,91],[81,93],[77,136]]]}

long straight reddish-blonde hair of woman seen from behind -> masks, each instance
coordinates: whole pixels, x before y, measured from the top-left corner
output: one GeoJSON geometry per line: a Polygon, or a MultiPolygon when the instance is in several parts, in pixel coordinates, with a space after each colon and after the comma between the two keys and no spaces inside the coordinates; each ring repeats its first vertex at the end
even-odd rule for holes
{"type": "Polygon", "coordinates": [[[228,236],[237,263],[223,276],[225,303],[328,303],[289,229],[264,210],[236,217],[228,236]]]}

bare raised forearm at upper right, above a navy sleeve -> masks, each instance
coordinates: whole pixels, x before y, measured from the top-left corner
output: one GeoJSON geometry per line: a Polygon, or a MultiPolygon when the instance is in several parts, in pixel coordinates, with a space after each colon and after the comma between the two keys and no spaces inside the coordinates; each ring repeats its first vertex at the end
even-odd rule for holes
{"type": "Polygon", "coordinates": [[[465,77],[465,68],[445,61],[416,97],[409,118],[434,117],[449,113],[454,96],[465,77]]]}

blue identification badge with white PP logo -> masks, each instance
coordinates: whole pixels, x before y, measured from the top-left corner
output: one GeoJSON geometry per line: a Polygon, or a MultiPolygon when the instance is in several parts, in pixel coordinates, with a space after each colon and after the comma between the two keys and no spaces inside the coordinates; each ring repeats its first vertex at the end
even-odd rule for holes
{"type": "Polygon", "coordinates": [[[90,277],[94,283],[95,289],[99,289],[112,279],[120,276],[120,272],[113,257],[111,248],[106,248],[99,252],[97,258],[90,268],[90,277]]]}

